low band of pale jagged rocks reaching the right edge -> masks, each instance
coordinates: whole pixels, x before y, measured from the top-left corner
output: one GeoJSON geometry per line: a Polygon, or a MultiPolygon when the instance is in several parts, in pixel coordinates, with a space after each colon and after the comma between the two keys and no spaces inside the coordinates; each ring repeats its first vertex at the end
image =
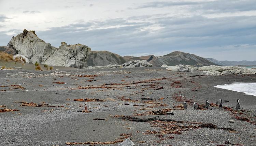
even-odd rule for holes
{"type": "Polygon", "coordinates": [[[233,66],[204,66],[193,68],[195,71],[202,71],[206,75],[223,75],[223,74],[256,74],[255,69],[247,69],[244,67],[233,66]]]}

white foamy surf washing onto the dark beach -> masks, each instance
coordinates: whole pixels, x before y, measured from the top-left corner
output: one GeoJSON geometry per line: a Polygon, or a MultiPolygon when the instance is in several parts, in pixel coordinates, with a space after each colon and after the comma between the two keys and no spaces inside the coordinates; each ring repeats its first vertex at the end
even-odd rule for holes
{"type": "Polygon", "coordinates": [[[222,88],[237,92],[243,92],[247,95],[253,95],[256,96],[256,83],[238,83],[234,82],[233,84],[225,84],[225,85],[217,85],[214,86],[216,88],[222,88]]]}

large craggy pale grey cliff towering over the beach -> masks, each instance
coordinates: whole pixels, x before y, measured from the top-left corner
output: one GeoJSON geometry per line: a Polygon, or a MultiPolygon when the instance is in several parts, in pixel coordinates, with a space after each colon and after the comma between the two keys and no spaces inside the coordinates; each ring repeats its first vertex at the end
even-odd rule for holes
{"type": "Polygon", "coordinates": [[[16,50],[17,54],[26,56],[30,63],[47,64],[51,66],[87,67],[89,47],[83,44],[67,45],[62,42],[59,48],[41,40],[35,31],[24,30],[23,33],[12,37],[8,47],[16,50]]]}

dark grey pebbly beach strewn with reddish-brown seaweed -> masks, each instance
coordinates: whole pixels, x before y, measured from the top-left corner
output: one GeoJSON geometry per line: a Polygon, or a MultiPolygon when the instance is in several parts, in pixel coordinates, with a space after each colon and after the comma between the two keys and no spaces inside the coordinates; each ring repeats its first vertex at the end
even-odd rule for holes
{"type": "Polygon", "coordinates": [[[66,145],[66,142],[107,142],[124,140],[125,137],[129,137],[134,144],[139,146],[228,146],[232,144],[255,146],[256,97],[213,86],[231,84],[234,81],[256,82],[256,75],[196,75],[200,73],[173,72],[166,71],[164,68],[79,69],[61,72],[60,70],[0,71],[0,86],[8,86],[0,87],[2,90],[0,91],[0,105],[6,106],[0,109],[19,110],[0,113],[0,145],[66,145]],[[99,76],[93,79],[69,75],[99,76]],[[57,81],[66,84],[54,83],[57,81]],[[138,81],[144,82],[136,83],[138,81]],[[180,83],[174,83],[174,81],[180,81],[180,83]],[[119,85],[104,85],[111,83],[119,85]],[[120,83],[125,85],[120,85],[120,83]],[[25,89],[10,86],[18,84],[25,89]],[[104,88],[77,89],[79,86],[88,88],[101,85],[104,88]],[[154,90],[162,86],[163,89],[154,90]],[[180,95],[185,97],[180,97],[180,95]],[[148,100],[138,99],[147,97],[155,100],[145,103],[148,100]],[[66,100],[67,98],[70,100],[66,100]],[[76,98],[99,98],[105,101],[73,101],[76,98]],[[212,110],[193,110],[193,103],[188,103],[187,110],[173,108],[184,100],[204,104],[205,100],[215,103],[219,98],[229,100],[230,102],[225,103],[224,106],[232,109],[236,106],[237,99],[241,99],[243,111],[230,112],[224,109],[219,110],[217,107],[211,107],[212,110]],[[45,102],[50,106],[64,107],[20,106],[22,101],[37,104],[45,102]],[[84,109],[84,103],[88,111],[92,111],[91,113],[77,112],[77,110],[84,109]],[[168,108],[174,109],[168,111],[173,112],[174,115],[159,115],[160,118],[187,122],[133,122],[114,117],[114,115],[138,118],[155,117],[157,115],[138,114],[168,108]],[[237,120],[235,116],[247,117],[251,122],[237,120]],[[103,118],[106,121],[93,120],[94,118],[103,118]],[[229,120],[235,122],[229,123],[229,120]],[[218,127],[233,128],[235,131],[198,128],[197,126],[201,123],[212,123],[218,127]],[[147,130],[155,132],[149,134],[147,130]],[[171,133],[175,131],[181,134],[171,133]],[[120,136],[120,134],[124,135],[122,133],[129,135],[120,136]],[[226,141],[230,144],[225,144],[226,141]]]}

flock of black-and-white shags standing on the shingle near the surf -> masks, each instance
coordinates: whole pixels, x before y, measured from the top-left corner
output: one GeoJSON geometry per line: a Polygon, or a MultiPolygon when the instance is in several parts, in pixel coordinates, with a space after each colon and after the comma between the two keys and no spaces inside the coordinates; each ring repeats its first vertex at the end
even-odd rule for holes
{"type": "MultiPolygon", "coordinates": [[[[240,101],[240,99],[237,99],[236,110],[240,110],[240,103],[239,103],[239,101],[240,101]]],[[[221,109],[221,108],[223,108],[222,105],[223,105],[224,103],[228,103],[228,102],[229,102],[229,101],[219,99],[219,100],[216,102],[216,105],[219,104],[219,109],[221,109]]],[[[187,102],[183,102],[183,106],[184,106],[184,109],[186,110],[186,109],[187,109],[187,102]]],[[[197,102],[194,102],[193,106],[194,106],[194,110],[195,110],[195,109],[198,109],[198,104],[197,104],[197,102]]],[[[204,106],[204,108],[205,108],[205,109],[208,109],[209,107],[210,107],[210,103],[209,103],[209,101],[207,100],[207,101],[205,101],[205,106],[204,106]]]]}

